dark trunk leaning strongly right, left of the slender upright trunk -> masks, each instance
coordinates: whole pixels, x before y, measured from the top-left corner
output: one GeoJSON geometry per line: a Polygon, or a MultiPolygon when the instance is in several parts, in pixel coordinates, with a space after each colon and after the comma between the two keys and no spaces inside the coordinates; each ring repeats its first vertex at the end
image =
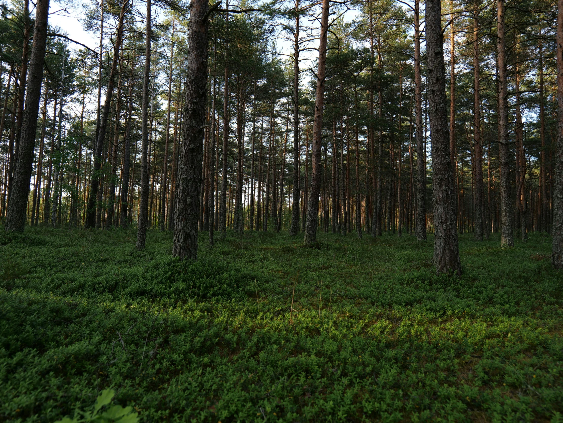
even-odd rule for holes
{"type": "Polygon", "coordinates": [[[86,210],[86,222],[85,226],[87,229],[94,228],[96,226],[96,202],[98,198],[98,189],[100,185],[100,170],[102,166],[102,148],[104,147],[104,139],[106,128],[108,127],[109,120],[109,109],[111,105],[111,96],[113,95],[114,87],[114,77],[117,73],[117,63],[119,60],[119,48],[121,47],[121,42],[123,40],[123,19],[125,17],[125,12],[127,10],[126,0],[121,7],[119,12],[119,22],[117,26],[117,36],[115,37],[115,46],[113,49],[113,61],[111,63],[111,70],[108,77],[108,90],[106,91],[106,98],[104,103],[104,109],[102,110],[100,128],[97,133],[96,149],[94,151],[94,170],[92,172],[92,177],[90,179],[90,192],[88,197],[88,207],[86,210]]]}

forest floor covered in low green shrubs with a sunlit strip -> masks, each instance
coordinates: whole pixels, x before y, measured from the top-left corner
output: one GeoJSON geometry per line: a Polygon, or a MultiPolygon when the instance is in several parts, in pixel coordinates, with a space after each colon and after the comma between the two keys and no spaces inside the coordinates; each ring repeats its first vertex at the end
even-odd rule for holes
{"type": "Polygon", "coordinates": [[[142,422],[563,421],[551,238],[0,233],[0,421],[52,423],[100,390],[142,422]],[[291,303],[293,297],[293,309],[291,303]]]}

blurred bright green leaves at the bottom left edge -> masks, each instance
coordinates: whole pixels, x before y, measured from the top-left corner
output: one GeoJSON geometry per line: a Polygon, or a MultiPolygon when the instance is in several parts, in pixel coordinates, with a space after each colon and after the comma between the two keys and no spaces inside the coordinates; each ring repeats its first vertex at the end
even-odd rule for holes
{"type": "Polygon", "coordinates": [[[123,408],[116,404],[102,412],[102,408],[111,403],[114,396],[115,391],[113,389],[104,389],[96,398],[92,413],[77,409],[74,413],[74,418],[65,417],[55,423],[137,423],[139,418],[137,413],[133,412],[133,407],[131,406],[123,408]]]}

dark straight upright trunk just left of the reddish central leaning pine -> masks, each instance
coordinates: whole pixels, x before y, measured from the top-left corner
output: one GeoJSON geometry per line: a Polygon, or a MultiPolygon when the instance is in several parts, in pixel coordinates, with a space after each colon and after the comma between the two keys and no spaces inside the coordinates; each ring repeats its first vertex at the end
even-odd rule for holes
{"type": "Polygon", "coordinates": [[[293,202],[289,235],[299,232],[299,199],[301,171],[299,164],[299,0],[295,2],[295,33],[293,43],[293,202]]]}

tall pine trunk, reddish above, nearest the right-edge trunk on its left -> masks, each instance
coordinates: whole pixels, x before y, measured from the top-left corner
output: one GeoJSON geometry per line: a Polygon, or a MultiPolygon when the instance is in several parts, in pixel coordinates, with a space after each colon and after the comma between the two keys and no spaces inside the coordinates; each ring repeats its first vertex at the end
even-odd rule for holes
{"type": "Polygon", "coordinates": [[[510,155],[508,154],[508,91],[504,47],[504,0],[497,2],[498,51],[498,149],[501,158],[501,246],[513,247],[512,202],[510,199],[510,155]]]}

